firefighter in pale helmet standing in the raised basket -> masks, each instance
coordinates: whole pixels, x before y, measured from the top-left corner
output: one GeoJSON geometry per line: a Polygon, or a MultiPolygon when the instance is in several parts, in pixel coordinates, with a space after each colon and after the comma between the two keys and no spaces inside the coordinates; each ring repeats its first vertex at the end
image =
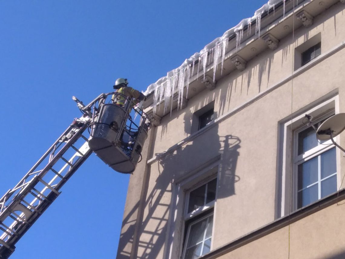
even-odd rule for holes
{"type": "MultiPolygon", "coordinates": [[[[127,78],[118,78],[115,81],[115,85],[113,86],[114,89],[117,90],[119,94],[123,94],[127,97],[129,97],[134,104],[139,103],[142,100],[146,100],[146,96],[142,93],[140,93],[138,90],[133,89],[132,87],[128,86],[127,78]]],[[[117,105],[124,105],[125,98],[122,96],[116,96],[113,95],[111,97],[112,101],[117,105]]]]}

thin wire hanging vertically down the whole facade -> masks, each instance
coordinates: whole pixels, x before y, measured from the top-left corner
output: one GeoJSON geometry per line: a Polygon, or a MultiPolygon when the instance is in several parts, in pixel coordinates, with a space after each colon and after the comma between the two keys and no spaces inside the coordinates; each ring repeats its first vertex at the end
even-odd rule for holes
{"type": "MultiPolygon", "coordinates": [[[[293,0],[293,11],[292,11],[292,47],[294,47],[295,42],[295,0],[293,0]]],[[[294,49],[294,48],[293,48],[294,49]]],[[[293,91],[294,91],[294,54],[292,55],[292,62],[291,62],[291,125],[293,122],[293,91]]],[[[291,129],[291,136],[290,139],[293,139],[293,131],[291,129]]],[[[292,153],[292,142],[290,142],[290,152],[292,153]]],[[[289,215],[288,215],[288,230],[289,230],[289,240],[288,240],[288,259],[290,259],[290,213],[291,213],[291,175],[293,173],[293,165],[290,163],[290,174],[289,174],[289,215]]]]}

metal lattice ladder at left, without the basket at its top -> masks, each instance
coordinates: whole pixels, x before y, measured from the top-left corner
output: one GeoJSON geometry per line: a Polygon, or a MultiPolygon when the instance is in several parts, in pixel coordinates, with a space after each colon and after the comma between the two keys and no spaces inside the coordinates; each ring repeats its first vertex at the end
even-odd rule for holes
{"type": "Polygon", "coordinates": [[[89,137],[83,135],[91,123],[90,117],[82,116],[75,122],[79,126],[69,126],[23,179],[0,199],[0,258],[12,254],[14,244],[92,153],[89,137]]]}

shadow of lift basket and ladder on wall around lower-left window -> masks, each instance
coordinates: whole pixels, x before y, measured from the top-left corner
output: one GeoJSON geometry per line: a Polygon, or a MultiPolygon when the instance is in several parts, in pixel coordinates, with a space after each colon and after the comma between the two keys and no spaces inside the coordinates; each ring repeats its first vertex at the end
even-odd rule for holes
{"type": "MultiPolygon", "coordinates": [[[[176,197],[171,192],[177,179],[183,178],[196,169],[203,169],[203,164],[222,154],[219,167],[219,186],[222,191],[219,192],[218,198],[235,194],[235,183],[240,180],[235,175],[239,143],[240,139],[236,136],[219,136],[218,125],[213,125],[196,137],[192,144],[179,147],[169,154],[156,154],[156,156],[161,156],[159,162],[156,163],[158,176],[152,175],[150,180],[151,183],[156,180],[156,183],[146,196],[145,214],[142,214],[139,231],[140,240],[137,245],[134,245],[139,247],[135,251],[135,258],[158,258],[162,251],[164,251],[164,257],[167,257],[173,235],[178,235],[183,239],[183,233],[169,231],[171,224],[175,225],[176,221],[182,220],[178,217],[169,218],[169,215],[174,215],[169,210],[176,204],[176,197]]],[[[177,208],[183,207],[184,202],[184,199],[179,199],[177,208]]]]}

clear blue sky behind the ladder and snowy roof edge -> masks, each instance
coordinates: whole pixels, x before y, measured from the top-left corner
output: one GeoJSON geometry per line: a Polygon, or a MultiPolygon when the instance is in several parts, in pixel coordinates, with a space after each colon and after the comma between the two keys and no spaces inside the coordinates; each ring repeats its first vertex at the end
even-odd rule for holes
{"type": "MultiPolygon", "coordinates": [[[[80,116],[72,95],[146,90],[266,2],[1,1],[0,196],[80,116]]],[[[11,258],[115,258],[128,181],[92,154],[11,258]]]]}

